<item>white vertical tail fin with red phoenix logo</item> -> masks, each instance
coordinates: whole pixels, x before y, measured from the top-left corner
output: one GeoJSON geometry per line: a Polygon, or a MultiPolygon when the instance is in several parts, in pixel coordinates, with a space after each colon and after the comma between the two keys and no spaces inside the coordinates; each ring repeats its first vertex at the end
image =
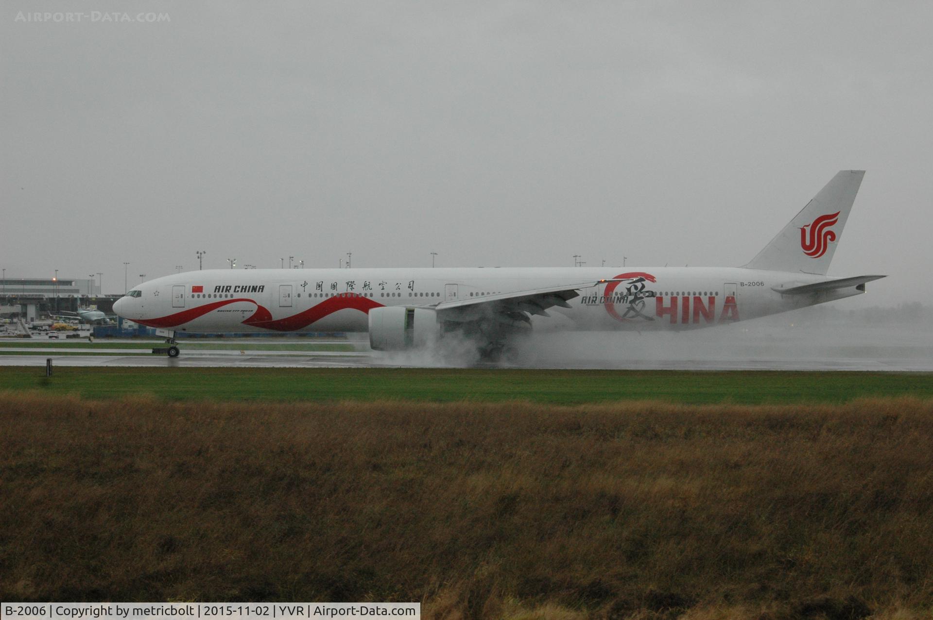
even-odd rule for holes
{"type": "Polygon", "coordinates": [[[826,275],[864,175],[863,170],[838,172],[744,267],[826,275]]]}

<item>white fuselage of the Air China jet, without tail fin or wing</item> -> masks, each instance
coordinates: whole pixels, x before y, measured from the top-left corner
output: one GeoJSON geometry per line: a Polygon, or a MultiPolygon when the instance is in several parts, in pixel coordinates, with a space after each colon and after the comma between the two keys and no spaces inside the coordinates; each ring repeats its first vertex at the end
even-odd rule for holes
{"type": "Polygon", "coordinates": [[[782,295],[773,287],[826,276],[742,268],[211,269],[135,287],[114,305],[136,323],[191,333],[366,331],[382,306],[442,302],[554,286],[578,288],[570,308],[533,317],[536,329],[683,329],[732,323],[861,291],[782,295]],[[633,278],[642,282],[632,287],[633,278]],[[602,282],[629,281],[629,282],[602,282]]]}

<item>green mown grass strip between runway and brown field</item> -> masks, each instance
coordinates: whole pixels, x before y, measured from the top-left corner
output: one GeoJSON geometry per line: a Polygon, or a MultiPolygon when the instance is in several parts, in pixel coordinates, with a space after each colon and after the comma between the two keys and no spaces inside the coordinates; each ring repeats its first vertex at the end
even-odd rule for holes
{"type": "Polygon", "coordinates": [[[0,367],[0,391],[77,393],[90,399],[154,394],[164,400],[410,400],[576,405],[843,403],[933,397],[933,373],[627,371],[423,368],[0,367]]]}

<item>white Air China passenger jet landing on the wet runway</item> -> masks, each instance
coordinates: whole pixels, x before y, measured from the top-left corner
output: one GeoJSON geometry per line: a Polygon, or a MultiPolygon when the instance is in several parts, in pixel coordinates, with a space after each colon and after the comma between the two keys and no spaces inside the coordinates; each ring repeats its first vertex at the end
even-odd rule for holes
{"type": "Polygon", "coordinates": [[[364,331],[379,351],[460,333],[486,355],[534,324],[681,329],[752,319],[865,292],[884,276],[830,278],[864,171],[836,174],[739,268],[212,269],[144,282],[114,304],[178,332],[364,331]]]}

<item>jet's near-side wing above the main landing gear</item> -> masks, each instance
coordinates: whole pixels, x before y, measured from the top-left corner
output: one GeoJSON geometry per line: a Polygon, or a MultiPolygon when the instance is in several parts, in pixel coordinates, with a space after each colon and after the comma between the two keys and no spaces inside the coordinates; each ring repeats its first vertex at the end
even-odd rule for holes
{"type": "Polygon", "coordinates": [[[554,306],[570,308],[569,299],[578,297],[579,291],[607,282],[581,282],[547,288],[536,288],[514,293],[487,295],[442,301],[432,306],[446,321],[466,323],[492,318],[500,323],[531,323],[531,315],[550,316],[548,309],[554,306]]]}

